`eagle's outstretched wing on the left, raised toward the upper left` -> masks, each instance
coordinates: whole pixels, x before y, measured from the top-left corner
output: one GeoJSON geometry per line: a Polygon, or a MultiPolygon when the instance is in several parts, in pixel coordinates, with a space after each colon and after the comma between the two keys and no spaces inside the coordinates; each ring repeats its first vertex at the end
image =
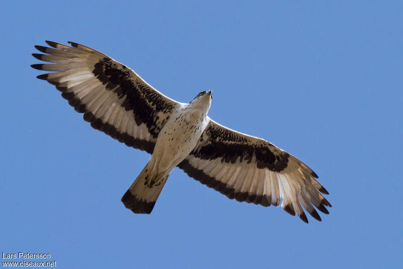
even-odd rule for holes
{"type": "Polygon", "coordinates": [[[54,73],[37,78],[55,85],[95,129],[151,154],[159,131],[179,103],[99,51],[74,42],[46,43],[52,48],[35,46],[46,54],[32,55],[51,63],[31,66],[54,73]]]}

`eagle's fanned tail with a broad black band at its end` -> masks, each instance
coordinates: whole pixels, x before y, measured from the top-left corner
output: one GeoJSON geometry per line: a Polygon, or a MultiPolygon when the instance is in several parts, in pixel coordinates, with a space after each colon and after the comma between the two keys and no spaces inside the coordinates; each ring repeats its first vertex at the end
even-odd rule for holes
{"type": "Polygon", "coordinates": [[[146,165],[135,182],[131,184],[121,201],[136,214],[150,214],[169,176],[165,173],[153,175],[146,165]]]}

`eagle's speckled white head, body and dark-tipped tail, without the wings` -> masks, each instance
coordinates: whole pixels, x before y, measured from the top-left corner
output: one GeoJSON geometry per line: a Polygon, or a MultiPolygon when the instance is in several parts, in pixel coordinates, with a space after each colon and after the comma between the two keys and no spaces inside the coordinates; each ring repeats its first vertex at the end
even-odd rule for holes
{"type": "Polygon", "coordinates": [[[171,171],[194,149],[208,124],[211,91],[194,102],[179,103],[158,134],[146,167],[122,197],[134,213],[151,213],[171,171]]]}

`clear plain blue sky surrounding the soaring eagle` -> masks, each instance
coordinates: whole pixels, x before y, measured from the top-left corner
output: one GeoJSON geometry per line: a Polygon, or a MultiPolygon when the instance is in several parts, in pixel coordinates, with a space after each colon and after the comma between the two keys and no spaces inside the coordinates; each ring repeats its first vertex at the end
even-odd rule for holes
{"type": "Polygon", "coordinates": [[[61,268],[401,266],[402,12],[393,1],[3,2],[0,251],[50,253],[61,268]],[[100,50],[178,101],[213,90],[210,117],[309,165],[330,215],[305,224],[179,169],[151,215],[132,214],[120,198],[149,155],[35,78],[44,40],[100,50]]]}

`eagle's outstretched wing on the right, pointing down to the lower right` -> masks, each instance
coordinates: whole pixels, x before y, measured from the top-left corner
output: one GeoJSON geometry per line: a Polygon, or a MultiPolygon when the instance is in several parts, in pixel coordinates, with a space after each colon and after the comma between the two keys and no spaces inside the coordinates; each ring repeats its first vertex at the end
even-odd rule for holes
{"type": "Polygon", "coordinates": [[[178,167],[230,199],[268,207],[280,206],[282,198],[282,208],[306,223],[302,207],[318,221],[321,219],[313,206],[329,214],[325,206],[331,205],[320,193],[328,192],[308,166],[263,139],[211,119],[196,147],[178,167]]]}

